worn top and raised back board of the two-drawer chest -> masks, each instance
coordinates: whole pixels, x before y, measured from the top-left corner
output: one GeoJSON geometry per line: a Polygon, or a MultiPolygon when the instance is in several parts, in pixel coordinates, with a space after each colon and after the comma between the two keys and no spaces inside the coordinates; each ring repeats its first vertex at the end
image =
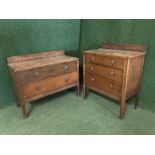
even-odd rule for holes
{"type": "Polygon", "coordinates": [[[55,54],[55,52],[48,52],[48,54],[45,56],[44,53],[38,53],[25,56],[9,57],[8,66],[14,71],[21,71],[60,63],[67,63],[76,60],[78,60],[78,58],[64,55],[63,52],[57,52],[57,54],[55,54]]]}

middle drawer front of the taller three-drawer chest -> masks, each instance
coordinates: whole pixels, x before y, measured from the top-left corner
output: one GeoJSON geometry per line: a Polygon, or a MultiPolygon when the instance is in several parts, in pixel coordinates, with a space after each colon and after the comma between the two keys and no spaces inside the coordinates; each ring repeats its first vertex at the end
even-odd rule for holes
{"type": "Polygon", "coordinates": [[[123,79],[122,70],[115,69],[112,67],[105,67],[105,66],[101,66],[101,65],[86,63],[85,71],[92,75],[100,75],[100,76],[107,77],[107,78],[110,78],[110,79],[116,80],[116,81],[122,81],[122,79],[123,79]]]}

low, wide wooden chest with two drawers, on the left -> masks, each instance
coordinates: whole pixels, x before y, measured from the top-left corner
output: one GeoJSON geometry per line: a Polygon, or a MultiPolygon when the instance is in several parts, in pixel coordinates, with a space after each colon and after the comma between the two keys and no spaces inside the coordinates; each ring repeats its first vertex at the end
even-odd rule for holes
{"type": "Polygon", "coordinates": [[[25,56],[12,56],[8,67],[17,106],[24,117],[26,104],[56,92],[77,87],[79,94],[79,60],[64,55],[64,51],[50,51],[25,56]]]}

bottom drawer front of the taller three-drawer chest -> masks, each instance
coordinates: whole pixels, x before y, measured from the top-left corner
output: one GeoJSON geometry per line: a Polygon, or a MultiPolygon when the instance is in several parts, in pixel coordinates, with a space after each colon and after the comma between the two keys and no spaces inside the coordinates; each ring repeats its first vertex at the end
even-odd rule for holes
{"type": "Polygon", "coordinates": [[[88,85],[98,90],[103,90],[104,92],[117,97],[121,96],[121,82],[116,82],[101,76],[95,76],[88,73],[85,74],[85,80],[86,86],[88,85]]]}

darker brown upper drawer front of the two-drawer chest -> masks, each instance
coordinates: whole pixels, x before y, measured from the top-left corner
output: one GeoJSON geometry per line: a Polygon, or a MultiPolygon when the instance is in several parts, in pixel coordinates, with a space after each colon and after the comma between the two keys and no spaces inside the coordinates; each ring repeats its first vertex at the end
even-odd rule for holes
{"type": "Polygon", "coordinates": [[[36,80],[41,80],[50,76],[73,72],[76,70],[76,61],[26,70],[21,73],[21,83],[25,84],[36,80]]]}

